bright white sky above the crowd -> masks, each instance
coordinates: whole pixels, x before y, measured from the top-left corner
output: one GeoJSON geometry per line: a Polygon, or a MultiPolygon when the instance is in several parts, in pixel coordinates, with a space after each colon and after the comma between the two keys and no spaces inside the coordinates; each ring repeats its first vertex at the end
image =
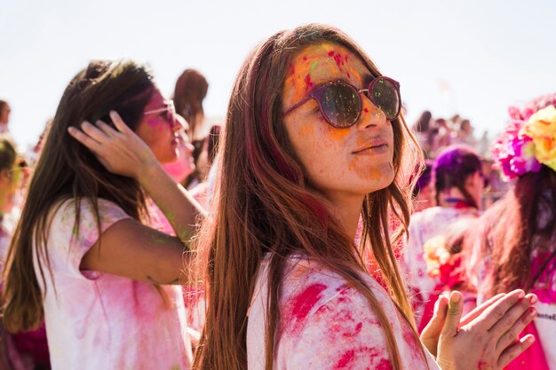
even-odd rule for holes
{"type": "Polygon", "coordinates": [[[401,82],[413,122],[459,113],[501,130],[508,105],[556,91],[552,0],[0,0],[0,98],[34,143],[90,59],[146,60],[167,95],[187,67],[206,75],[205,113],[224,116],[248,51],[283,28],[322,22],[401,82]]]}

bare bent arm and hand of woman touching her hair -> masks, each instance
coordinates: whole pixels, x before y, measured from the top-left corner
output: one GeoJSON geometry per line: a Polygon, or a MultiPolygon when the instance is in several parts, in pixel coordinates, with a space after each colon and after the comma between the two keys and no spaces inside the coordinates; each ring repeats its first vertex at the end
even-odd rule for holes
{"type": "Polygon", "coordinates": [[[196,217],[204,209],[163,170],[150,148],[122,121],[110,114],[117,130],[104,122],[96,127],[83,122],[82,130],[68,129],[110,171],[133,177],[168,218],[177,238],[131,220],[120,221],[103,232],[83,257],[83,269],[156,282],[177,284],[190,256],[182,258],[196,217]]]}

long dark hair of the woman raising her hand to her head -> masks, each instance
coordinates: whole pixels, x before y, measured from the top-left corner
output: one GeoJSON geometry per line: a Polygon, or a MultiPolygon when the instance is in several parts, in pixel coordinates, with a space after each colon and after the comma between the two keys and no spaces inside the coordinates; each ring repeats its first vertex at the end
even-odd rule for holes
{"type": "Polygon", "coordinates": [[[139,183],[108,172],[85,146],[69,136],[68,127],[78,127],[84,120],[102,119],[112,124],[108,112],[114,109],[135,130],[153,88],[149,68],[131,60],[92,61],[68,84],[31,178],[8,253],[2,294],[3,321],[8,330],[32,329],[43,319],[44,295],[33,268],[33,256],[36,253],[43,282],[41,261],[46,262],[52,277],[46,245],[47,220],[57,205],[75,199],[75,224],[79,224],[80,202],[90,201],[98,228],[99,198],[113,201],[137,220],[146,214],[139,183]]]}

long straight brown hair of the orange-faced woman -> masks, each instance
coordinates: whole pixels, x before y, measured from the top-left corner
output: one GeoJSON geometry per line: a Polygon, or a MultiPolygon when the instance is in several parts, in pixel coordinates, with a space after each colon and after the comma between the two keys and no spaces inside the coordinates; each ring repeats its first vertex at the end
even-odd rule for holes
{"type": "MultiPolygon", "coordinates": [[[[369,255],[363,248],[371,246],[394,303],[415,327],[388,229],[392,214],[404,227],[409,222],[405,174],[409,175],[411,168],[408,166],[407,172],[402,169],[403,156],[417,144],[402,118],[392,122],[395,181],[368,194],[361,204],[363,241],[361,248],[356,248],[322,201],[308,190],[306,171],[282,124],[282,91],[290,60],[306,46],[326,41],[344,45],[373,75],[380,75],[345,34],[311,24],[271,36],[250,53],[236,78],[219,151],[215,212],[198,240],[199,248],[205,248],[201,264],[207,313],[195,369],[247,368],[247,311],[259,264],[268,252],[266,369],[273,366],[282,270],[286,257],[299,252],[337,272],[369,299],[385,328],[393,367],[401,368],[392,327],[361,274],[367,271],[364,256],[369,255]]],[[[417,149],[413,153],[420,154],[417,149]]],[[[418,340],[417,333],[415,336],[418,340]]]]}

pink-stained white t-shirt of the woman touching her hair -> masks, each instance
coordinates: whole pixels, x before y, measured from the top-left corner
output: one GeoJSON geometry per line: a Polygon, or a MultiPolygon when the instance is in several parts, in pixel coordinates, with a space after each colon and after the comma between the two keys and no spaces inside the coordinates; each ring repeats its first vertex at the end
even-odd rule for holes
{"type": "MultiPolygon", "coordinates": [[[[165,305],[153,284],[80,271],[79,264],[99,233],[88,201],[81,202],[81,222],[74,227],[74,204],[74,200],[64,201],[49,216],[47,246],[53,281],[41,257],[43,284],[35,259],[44,293],[52,369],[189,368],[191,355],[180,287],[162,287],[169,298],[165,305]]],[[[99,200],[99,214],[101,232],[129,217],[105,200],[99,200]]]]}

